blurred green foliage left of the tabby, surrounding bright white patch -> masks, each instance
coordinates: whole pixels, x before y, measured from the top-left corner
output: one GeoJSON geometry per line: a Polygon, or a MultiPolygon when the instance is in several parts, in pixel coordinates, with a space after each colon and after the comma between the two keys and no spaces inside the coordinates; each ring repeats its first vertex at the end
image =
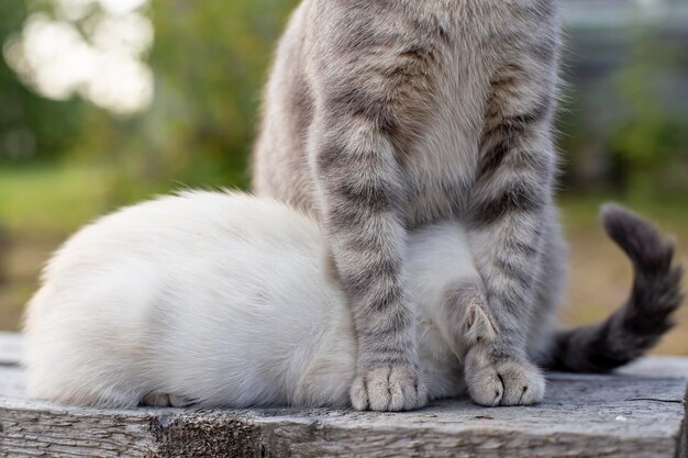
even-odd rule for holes
{"type": "MultiPolygon", "coordinates": [[[[21,31],[27,16],[24,3],[2,2],[3,41],[21,31]]],[[[260,88],[271,49],[297,3],[149,0],[141,10],[155,30],[152,49],[141,56],[155,81],[147,110],[118,115],[77,97],[48,101],[22,86],[3,64],[0,81],[9,82],[0,90],[8,92],[3,100],[16,99],[16,110],[0,115],[16,113],[2,119],[0,129],[14,122],[19,134],[13,135],[24,135],[29,143],[34,138],[37,149],[45,145],[53,155],[70,150],[81,161],[110,161],[114,203],[187,185],[245,187],[260,88]]],[[[70,22],[86,43],[92,42],[93,24],[103,18],[98,2],[76,19],[60,16],[56,0],[30,4],[29,12],[70,22]]]]}

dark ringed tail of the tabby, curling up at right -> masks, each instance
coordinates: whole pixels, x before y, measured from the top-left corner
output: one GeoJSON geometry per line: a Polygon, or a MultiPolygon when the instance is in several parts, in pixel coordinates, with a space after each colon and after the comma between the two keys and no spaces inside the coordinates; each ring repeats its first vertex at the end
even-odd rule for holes
{"type": "Polygon", "coordinates": [[[674,260],[672,242],[619,205],[603,206],[602,223],[633,262],[631,295],[606,321],[558,332],[548,365],[553,370],[607,372],[632,361],[674,326],[672,314],[684,299],[684,268],[674,260]]]}

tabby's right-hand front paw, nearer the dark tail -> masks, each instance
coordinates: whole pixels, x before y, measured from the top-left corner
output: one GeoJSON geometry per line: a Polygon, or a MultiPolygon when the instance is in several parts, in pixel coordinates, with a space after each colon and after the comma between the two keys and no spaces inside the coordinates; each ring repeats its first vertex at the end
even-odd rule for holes
{"type": "Polygon", "coordinates": [[[468,394],[476,404],[531,405],[542,402],[545,378],[528,361],[504,359],[466,365],[468,394]]]}

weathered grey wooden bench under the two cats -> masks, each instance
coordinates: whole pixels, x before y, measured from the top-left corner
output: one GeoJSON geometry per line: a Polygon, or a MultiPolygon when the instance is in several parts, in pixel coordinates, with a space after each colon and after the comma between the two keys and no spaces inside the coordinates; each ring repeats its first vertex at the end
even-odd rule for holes
{"type": "Polygon", "coordinates": [[[104,411],[29,400],[21,343],[0,334],[3,457],[688,457],[684,358],[613,376],[552,373],[532,407],[104,411]]]}

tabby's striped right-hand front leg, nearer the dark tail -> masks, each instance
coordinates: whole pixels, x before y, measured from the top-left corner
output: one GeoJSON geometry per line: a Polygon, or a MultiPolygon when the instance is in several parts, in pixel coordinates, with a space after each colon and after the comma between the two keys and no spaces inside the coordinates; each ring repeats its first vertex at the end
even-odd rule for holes
{"type": "Polygon", "coordinates": [[[526,346],[542,278],[543,237],[553,214],[556,65],[522,58],[528,67],[506,66],[492,80],[470,199],[471,250],[500,329],[481,355],[488,362],[484,370],[471,375],[474,365],[467,367],[469,392],[482,405],[532,404],[544,396],[544,377],[529,361],[526,346]],[[501,394],[491,389],[498,384],[501,394]]]}

